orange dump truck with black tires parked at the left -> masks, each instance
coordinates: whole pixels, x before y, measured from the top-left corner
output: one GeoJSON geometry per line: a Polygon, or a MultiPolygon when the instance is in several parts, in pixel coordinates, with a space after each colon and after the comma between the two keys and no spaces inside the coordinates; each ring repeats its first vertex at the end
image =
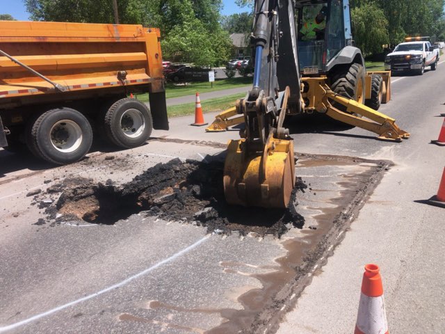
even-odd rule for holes
{"type": "Polygon", "coordinates": [[[70,164],[96,134],[133,148],[168,129],[159,40],[140,25],[0,21],[0,147],[70,164]],[[131,98],[147,92],[149,108],[131,98]]]}

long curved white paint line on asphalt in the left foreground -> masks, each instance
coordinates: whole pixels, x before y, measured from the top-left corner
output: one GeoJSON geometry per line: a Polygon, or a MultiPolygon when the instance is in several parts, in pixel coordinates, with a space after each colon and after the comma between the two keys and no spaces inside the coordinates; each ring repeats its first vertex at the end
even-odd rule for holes
{"type": "Polygon", "coordinates": [[[124,285],[126,285],[127,283],[130,283],[132,280],[135,280],[136,278],[139,278],[140,276],[144,276],[146,273],[149,273],[150,271],[153,271],[154,269],[157,269],[159,267],[161,267],[163,264],[166,264],[168,262],[171,262],[172,260],[177,259],[177,257],[180,257],[181,255],[184,255],[186,253],[188,253],[190,250],[192,250],[193,248],[196,248],[197,246],[200,246],[200,244],[202,244],[204,241],[206,241],[207,239],[209,239],[211,234],[208,234],[207,236],[203,237],[202,239],[198,240],[195,242],[195,244],[192,244],[191,246],[188,246],[187,248],[184,248],[183,250],[179,251],[178,253],[176,253],[175,255],[172,255],[170,257],[168,257],[167,259],[158,262],[156,264],[154,264],[154,266],[149,267],[147,269],[145,269],[144,271],[140,271],[140,273],[136,273],[136,275],[133,275],[125,280],[122,280],[122,282],[117,283],[115,285],[111,285],[111,287],[106,287],[105,289],[100,290],[99,292],[95,292],[94,294],[90,294],[88,296],[85,296],[81,299],[77,299],[76,301],[71,301],[70,303],[66,303],[65,305],[60,305],[57,308],[53,308],[52,310],[49,310],[47,312],[43,312],[40,313],[39,315],[35,315],[33,317],[30,317],[28,319],[24,319],[22,321],[16,322],[15,324],[10,324],[7,326],[3,326],[0,327],[0,333],[6,332],[6,331],[10,331],[14,328],[17,328],[19,326],[24,326],[26,324],[29,324],[32,321],[41,319],[43,317],[47,317],[48,315],[52,315],[53,313],[56,313],[58,311],[64,310],[65,308],[69,308],[70,306],[76,305],[78,303],[81,303],[83,301],[88,301],[88,299],[92,299],[94,297],[97,297],[101,294],[104,294],[105,292],[109,292],[113,289],[117,289],[118,287],[122,287],[124,285]]]}

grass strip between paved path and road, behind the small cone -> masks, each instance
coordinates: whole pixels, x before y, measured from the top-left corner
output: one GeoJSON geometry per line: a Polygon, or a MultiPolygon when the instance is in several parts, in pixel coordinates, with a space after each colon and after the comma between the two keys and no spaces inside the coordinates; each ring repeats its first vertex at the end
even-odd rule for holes
{"type": "MultiPolygon", "coordinates": [[[[224,111],[232,108],[232,106],[235,106],[236,100],[241,99],[241,97],[245,97],[245,93],[227,95],[225,97],[218,97],[216,99],[202,101],[202,112],[209,113],[212,111],[224,111]]],[[[192,115],[195,113],[195,102],[168,106],[167,113],[168,117],[192,115]]],[[[207,120],[207,122],[211,123],[213,120],[207,120]]]]}

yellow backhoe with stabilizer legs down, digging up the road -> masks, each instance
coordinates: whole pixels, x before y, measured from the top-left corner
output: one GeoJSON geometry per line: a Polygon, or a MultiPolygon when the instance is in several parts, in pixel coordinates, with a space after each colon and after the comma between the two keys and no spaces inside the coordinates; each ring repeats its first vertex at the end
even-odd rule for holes
{"type": "Polygon", "coordinates": [[[252,90],[206,129],[225,131],[245,123],[241,139],[227,147],[223,183],[229,204],[289,205],[295,160],[293,140],[283,127],[286,116],[316,111],[382,140],[410,137],[376,111],[391,98],[391,74],[366,73],[350,31],[348,0],[255,1],[252,90]],[[307,22],[323,29],[305,38],[307,22]]]}

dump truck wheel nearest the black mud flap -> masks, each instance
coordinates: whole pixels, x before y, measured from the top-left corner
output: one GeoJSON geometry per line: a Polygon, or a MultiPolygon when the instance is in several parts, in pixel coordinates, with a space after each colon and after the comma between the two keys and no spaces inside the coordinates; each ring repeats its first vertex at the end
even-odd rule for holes
{"type": "Polygon", "coordinates": [[[124,98],[106,112],[104,129],[108,139],[121,148],[136,148],[152,134],[152,114],[138,100],[124,98]]]}

